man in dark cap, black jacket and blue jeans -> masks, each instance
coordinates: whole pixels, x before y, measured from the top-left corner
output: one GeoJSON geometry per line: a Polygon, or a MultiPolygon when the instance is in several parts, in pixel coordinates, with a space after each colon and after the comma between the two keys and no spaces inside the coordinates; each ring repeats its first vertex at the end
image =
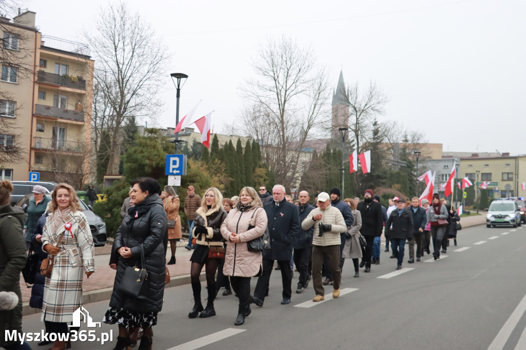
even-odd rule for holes
{"type": "Polygon", "coordinates": [[[391,235],[393,254],[398,259],[396,269],[402,269],[403,253],[406,249],[406,240],[411,241],[413,238],[413,215],[406,209],[406,203],[403,199],[398,199],[397,209],[391,212],[387,219],[386,228],[391,235]]]}

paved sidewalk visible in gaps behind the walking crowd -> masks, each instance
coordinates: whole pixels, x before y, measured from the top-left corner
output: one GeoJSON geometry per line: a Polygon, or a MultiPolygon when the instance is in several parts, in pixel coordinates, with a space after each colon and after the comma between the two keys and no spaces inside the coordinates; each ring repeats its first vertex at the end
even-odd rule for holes
{"type": "MultiPolygon", "coordinates": [[[[462,224],[462,228],[485,224],[485,214],[485,212],[481,212],[480,215],[461,218],[460,223],[462,224]]],[[[381,239],[382,242],[385,242],[383,235],[381,236],[381,239]]],[[[177,244],[177,251],[175,254],[177,263],[175,265],[168,265],[171,279],[170,283],[166,285],[167,288],[190,283],[190,256],[192,252],[184,248],[187,243],[187,240],[182,239],[177,244]]],[[[83,290],[85,304],[109,300],[112,295],[115,270],[110,269],[108,266],[109,252],[111,249],[111,243],[106,244],[103,247],[95,248],[95,268],[97,271],[89,277],[89,279],[84,277],[83,290]]],[[[170,248],[168,248],[167,261],[170,259],[170,256],[170,248]]],[[[201,282],[206,280],[204,271],[201,273],[200,280],[201,282]]],[[[23,315],[25,316],[41,312],[40,309],[29,307],[31,289],[26,287],[22,276],[20,288],[22,290],[23,315]]]]}

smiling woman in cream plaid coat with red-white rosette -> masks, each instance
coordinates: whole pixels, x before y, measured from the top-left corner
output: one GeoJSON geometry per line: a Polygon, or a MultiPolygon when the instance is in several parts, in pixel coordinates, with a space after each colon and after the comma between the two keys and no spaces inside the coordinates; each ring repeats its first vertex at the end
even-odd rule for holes
{"type": "MultiPolygon", "coordinates": [[[[69,333],[67,323],[82,305],[83,274],[95,271],[95,249],[88,221],[73,187],[59,183],[52,195],[42,234],[42,249],[53,256],[53,271],[44,285],[42,321],[48,333],[69,333]]],[[[53,349],[63,349],[56,341],[53,349]]]]}

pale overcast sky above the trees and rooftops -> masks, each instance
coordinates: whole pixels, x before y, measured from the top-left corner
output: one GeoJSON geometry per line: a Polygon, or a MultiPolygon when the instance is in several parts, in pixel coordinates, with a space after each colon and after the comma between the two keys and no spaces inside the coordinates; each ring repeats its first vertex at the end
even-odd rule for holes
{"type": "MultiPolygon", "coordinates": [[[[83,42],[82,29],[111,2],[26,3],[44,35],[83,42]]],[[[444,151],[526,153],[524,1],[126,3],[165,38],[173,53],[168,73],[189,76],[180,116],[202,99],[194,117],[215,110],[215,132],[239,116],[238,88],[253,74],[249,60],[260,43],[285,34],[313,49],[334,88],[340,69],[346,84],[375,81],[390,98],[380,121],[422,130],[444,151]]],[[[162,96],[166,106],[157,124],[174,127],[169,79],[162,96]]]]}

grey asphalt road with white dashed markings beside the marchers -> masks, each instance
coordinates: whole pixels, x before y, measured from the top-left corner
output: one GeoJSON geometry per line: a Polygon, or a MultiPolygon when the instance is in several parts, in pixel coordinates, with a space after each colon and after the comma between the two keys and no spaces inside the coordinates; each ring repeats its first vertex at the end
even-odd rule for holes
{"type": "MultiPolygon", "coordinates": [[[[154,327],[154,348],[526,349],[526,228],[478,226],[460,231],[458,242],[440,260],[426,255],[414,264],[407,263],[406,245],[404,269],[398,272],[396,260],[382,248],[380,265],[373,265],[371,273],[360,269],[358,279],[352,277],[348,260],[342,295],[322,303],[311,302],[312,285],[303,294],[294,293],[295,273],[292,302],[280,305],[281,278],[274,271],[264,307],[252,305],[239,327],[234,326],[234,295],[219,294],[216,316],[190,320],[190,286],[168,289],[154,327]]],[[[252,290],[255,284],[253,279],[252,290]]],[[[329,287],[326,294],[332,292],[329,287]]],[[[202,294],[204,299],[204,284],[202,294]]],[[[95,322],[107,307],[107,302],[85,305],[95,322]]],[[[43,323],[32,315],[24,318],[23,326],[25,332],[40,332],[43,323]]],[[[82,329],[95,329],[97,336],[113,330],[116,341],[115,325],[82,329]]],[[[38,348],[36,343],[31,346],[38,348]]],[[[113,346],[76,342],[73,348],[113,346]]]]}

